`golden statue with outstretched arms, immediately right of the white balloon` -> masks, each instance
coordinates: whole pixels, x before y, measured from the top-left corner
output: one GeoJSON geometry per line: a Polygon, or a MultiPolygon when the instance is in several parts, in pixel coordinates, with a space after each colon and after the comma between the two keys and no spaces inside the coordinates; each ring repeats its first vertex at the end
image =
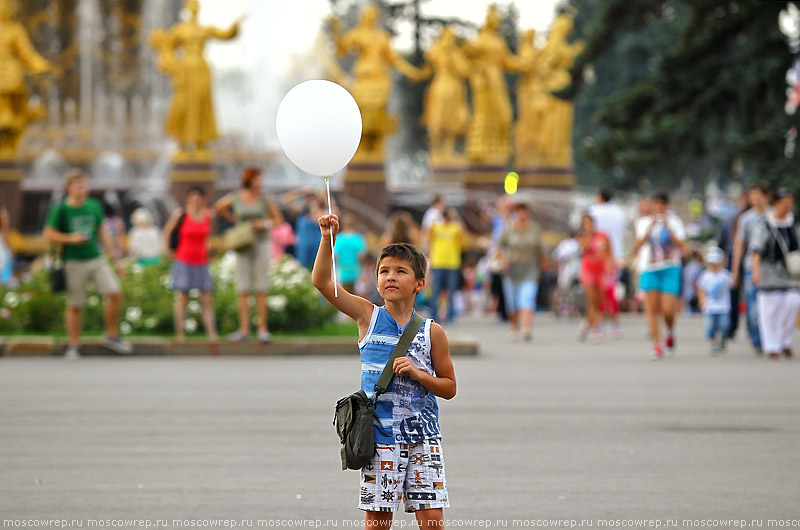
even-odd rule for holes
{"type": "Polygon", "coordinates": [[[397,129],[397,120],[387,110],[392,91],[392,67],[411,79],[421,79],[419,69],[392,50],[389,33],[378,26],[380,11],[369,5],[361,13],[358,26],[341,35],[341,23],[330,19],[331,37],[339,56],[356,53],[351,86],[361,109],[363,129],[354,162],[382,163],[386,137],[397,129]]]}

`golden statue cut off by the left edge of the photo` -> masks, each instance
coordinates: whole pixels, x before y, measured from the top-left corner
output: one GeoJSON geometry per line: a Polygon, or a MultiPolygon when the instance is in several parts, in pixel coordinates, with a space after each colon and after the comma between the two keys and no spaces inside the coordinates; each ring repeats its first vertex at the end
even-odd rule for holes
{"type": "Polygon", "coordinates": [[[28,106],[25,72],[51,70],[50,63],[31,45],[25,28],[14,20],[11,0],[0,0],[0,157],[14,158],[22,133],[31,121],[46,114],[28,106]]]}

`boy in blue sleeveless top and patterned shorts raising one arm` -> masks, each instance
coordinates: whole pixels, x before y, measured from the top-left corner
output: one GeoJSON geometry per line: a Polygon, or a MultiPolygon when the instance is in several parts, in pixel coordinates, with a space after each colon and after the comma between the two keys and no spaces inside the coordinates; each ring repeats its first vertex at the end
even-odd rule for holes
{"type": "MultiPolygon", "coordinates": [[[[319,220],[322,241],[314,262],[314,286],[339,311],[358,324],[361,389],[375,395],[383,367],[414,316],[414,298],[425,287],[427,260],[415,247],[393,243],[377,262],[378,307],[338,287],[331,278],[331,237],[339,231],[336,215],[319,220]]],[[[405,501],[420,528],[444,526],[442,508],[450,506],[436,397],[456,395],[456,376],[444,329],[426,319],[406,355],[395,359],[394,377],[375,406],[375,456],[361,469],[358,507],[366,512],[365,528],[386,528],[405,501]]]]}

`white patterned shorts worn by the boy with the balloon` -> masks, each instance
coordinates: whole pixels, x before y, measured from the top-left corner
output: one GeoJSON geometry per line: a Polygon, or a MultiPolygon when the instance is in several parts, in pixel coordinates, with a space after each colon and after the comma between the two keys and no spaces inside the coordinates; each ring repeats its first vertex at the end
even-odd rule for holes
{"type": "Polygon", "coordinates": [[[418,444],[375,444],[372,462],[361,468],[358,507],[371,512],[449,508],[441,440],[418,444]]]}

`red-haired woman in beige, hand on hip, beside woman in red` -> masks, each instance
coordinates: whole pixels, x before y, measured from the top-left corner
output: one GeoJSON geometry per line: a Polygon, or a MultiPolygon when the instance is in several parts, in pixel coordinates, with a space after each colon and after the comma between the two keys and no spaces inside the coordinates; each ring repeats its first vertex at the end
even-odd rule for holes
{"type": "Polygon", "coordinates": [[[256,295],[258,340],[269,342],[267,329],[267,291],[269,289],[270,241],[269,229],[283,222],[275,201],[261,194],[261,170],[248,167],[242,171],[242,188],[229,193],[214,205],[214,209],[232,223],[253,224],[256,244],[249,250],[236,252],[236,286],[239,292],[239,329],[228,340],[239,342],[250,335],[251,292],[256,295]]]}

